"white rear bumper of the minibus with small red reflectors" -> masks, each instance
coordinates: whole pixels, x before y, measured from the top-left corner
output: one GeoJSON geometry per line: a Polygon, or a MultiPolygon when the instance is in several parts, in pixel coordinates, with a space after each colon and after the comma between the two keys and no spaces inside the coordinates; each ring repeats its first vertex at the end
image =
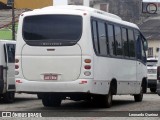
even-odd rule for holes
{"type": "Polygon", "coordinates": [[[28,81],[16,78],[16,92],[23,93],[91,93],[108,94],[108,81],[78,79],[68,82],[28,81]]]}

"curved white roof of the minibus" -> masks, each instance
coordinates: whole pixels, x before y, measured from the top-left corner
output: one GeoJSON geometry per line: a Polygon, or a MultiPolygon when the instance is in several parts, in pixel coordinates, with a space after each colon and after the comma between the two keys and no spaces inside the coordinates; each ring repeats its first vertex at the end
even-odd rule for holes
{"type": "Polygon", "coordinates": [[[55,13],[55,12],[59,12],[59,13],[88,13],[93,17],[98,17],[101,19],[106,19],[108,21],[111,22],[115,22],[115,23],[119,23],[119,24],[123,24],[126,26],[130,26],[130,27],[134,27],[136,29],[139,29],[137,25],[127,22],[127,21],[123,21],[119,16],[108,13],[108,12],[104,12],[102,10],[98,10],[98,9],[94,9],[91,7],[86,7],[86,6],[79,6],[79,5],[65,5],[65,6],[49,6],[49,7],[44,7],[41,9],[35,9],[33,11],[27,12],[30,14],[36,14],[36,13],[42,13],[42,12],[47,12],[47,13],[55,13]]]}

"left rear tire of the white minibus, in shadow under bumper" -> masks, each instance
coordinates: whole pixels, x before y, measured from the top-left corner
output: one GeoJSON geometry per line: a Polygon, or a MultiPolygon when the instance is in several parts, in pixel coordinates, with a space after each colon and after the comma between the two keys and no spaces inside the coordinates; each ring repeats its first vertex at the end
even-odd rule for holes
{"type": "Polygon", "coordinates": [[[42,103],[45,107],[59,107],[62,99],[54,95],[43,95],[42,103]]]}

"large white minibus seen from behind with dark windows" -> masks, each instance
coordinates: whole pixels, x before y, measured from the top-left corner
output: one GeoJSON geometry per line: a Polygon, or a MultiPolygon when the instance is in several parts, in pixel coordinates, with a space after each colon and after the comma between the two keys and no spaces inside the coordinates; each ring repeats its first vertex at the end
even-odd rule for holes
{"type": "Polygon", "coordinates": [[[137,25],[84,6],[51,6],[20,15],[17,92],[42,95],[44,106],[90,100],[111,107],[113,95],[142,101],[146,39],[137,25]]]}

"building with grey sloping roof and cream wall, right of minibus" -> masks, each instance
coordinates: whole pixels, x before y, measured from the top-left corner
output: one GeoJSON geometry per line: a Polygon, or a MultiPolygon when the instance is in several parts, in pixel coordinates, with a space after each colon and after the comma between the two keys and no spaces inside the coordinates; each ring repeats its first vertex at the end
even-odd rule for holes
{"type": "Polygon", "coordinates": [[[148,57],[158,57],[160,47],[160,16],[148,18],[140,29],[148,40],[148,57]]]}

